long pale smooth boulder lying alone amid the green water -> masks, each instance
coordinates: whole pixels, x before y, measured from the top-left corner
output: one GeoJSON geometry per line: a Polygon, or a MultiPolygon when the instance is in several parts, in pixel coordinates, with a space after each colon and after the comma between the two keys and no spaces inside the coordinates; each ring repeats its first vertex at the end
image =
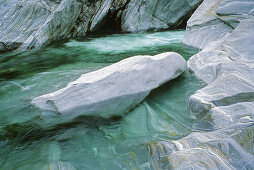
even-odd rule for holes
{"type": "Polygon", "coordinates": [[[63,89],[35,98],[32,104],[61,116],[120,115],[185,69],[186,61],[177,53],[130,57],[84,74],[63,89]]]}

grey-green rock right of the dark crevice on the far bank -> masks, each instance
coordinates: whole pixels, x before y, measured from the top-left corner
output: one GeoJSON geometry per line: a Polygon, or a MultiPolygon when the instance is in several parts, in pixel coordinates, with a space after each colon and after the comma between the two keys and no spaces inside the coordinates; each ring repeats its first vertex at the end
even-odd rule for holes
{"type": "Polygon", "coordinates": [[[181,24],[202,0],[131,0],[123,12],[125,32],[166,29],[181,24]]]}

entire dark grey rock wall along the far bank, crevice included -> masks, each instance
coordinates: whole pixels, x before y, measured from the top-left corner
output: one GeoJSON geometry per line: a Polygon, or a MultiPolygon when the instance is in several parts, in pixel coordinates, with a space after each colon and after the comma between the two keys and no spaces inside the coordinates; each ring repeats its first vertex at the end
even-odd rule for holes
{"type": "Polygon", "coordinates": [[[167,29],[201,1],[0,0],[0,51],[29,50],[88,32],[167,29]]]}

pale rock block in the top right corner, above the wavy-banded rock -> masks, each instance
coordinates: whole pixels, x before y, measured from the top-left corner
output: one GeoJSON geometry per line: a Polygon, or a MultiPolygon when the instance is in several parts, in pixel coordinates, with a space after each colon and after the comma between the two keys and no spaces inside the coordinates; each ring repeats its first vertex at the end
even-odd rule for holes
{"type": "Polygon", "coordinates": [[[220,44],[253,11],[252,0],[205,0],[188,20],[183,43],[199,49],[220,44]]]}

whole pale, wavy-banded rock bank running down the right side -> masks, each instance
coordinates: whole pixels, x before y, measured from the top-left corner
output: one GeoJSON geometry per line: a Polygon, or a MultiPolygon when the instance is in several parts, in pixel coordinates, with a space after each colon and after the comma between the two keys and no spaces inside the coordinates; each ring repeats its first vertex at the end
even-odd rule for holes
{"type": "MultiPolygon", "coordinates": [[[[211,6],[208,4],[211,3],[205,1],[198,10],[209,11],[211,6]]],[[[231,33],[226,33],[227,36],[219,41],[213,40],[213,33],[215,37],[218,35],[217,29],[210,27],[214,20],[205,20],[207,17],[202,20],[199,16],[203,25],[195,21],[197,25],[191,27],[209,31],[203,38],[207,38],[206,43],[210,42],[187,62],[189,70],[207,83],[189,98],[198,132],[176,141],[150,144],[155,169],[254,169],[253,1],[213,3],[213,8],[216,7],[221,15],[238,15],[240,23],[228,23],[231,33]]],[[[194,17],[198,17],[196,12],[194,17]]],[[[197,38],[201,36],[196,35],[197,38]]],[[[191,45],[197,45],[196,42],[191,45]]]]}

